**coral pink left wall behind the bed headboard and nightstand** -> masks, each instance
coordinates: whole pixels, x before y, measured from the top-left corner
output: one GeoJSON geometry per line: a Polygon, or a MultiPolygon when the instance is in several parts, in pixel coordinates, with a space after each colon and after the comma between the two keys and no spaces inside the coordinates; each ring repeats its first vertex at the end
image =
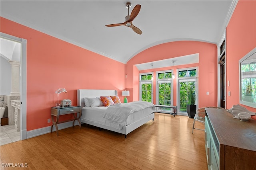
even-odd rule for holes
{"type": "MultiPolygon", "coordinates": [[[[55,90],[66,88],[60,100],[77,102],[77,89],[116,89],[121,100],[125,64],[0,18],[1,32],[27,39],[27,131],[50,126],[55,90]]],[[[67,119],[68,117],[62,117],[67,119]]]]}

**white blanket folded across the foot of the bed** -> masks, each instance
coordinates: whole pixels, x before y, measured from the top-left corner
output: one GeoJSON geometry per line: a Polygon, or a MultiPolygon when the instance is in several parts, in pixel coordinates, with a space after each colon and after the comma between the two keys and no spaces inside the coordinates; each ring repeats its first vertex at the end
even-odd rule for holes
{"type": "Polygon", "coordinates": [[[152,112],[156,111],[155,105],[150,102],[136,101],[130,103],[115,104],[113,106],[109,106],[106,109],[103,117],[125,126],[125,122],[130,114],[142,109],[146,109],[148,107],[152,107],[152,112]]]}

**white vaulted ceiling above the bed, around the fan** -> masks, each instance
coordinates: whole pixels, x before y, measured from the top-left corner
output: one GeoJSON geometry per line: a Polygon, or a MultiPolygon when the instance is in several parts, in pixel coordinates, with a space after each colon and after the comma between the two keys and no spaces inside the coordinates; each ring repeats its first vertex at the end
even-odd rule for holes
{"type": "Polygon", "coordinates": [[[0,14],[127,63],[141,51],[161,43],[179,40],[219,43],[231,6],[232,0],[1,0],[0,14]],[[136,4],[141,5],[132,23],[142,30],[142,35],[125,26],[105,26],[125,21],[126,2],[132,3],[132,9],[136,4]]]}

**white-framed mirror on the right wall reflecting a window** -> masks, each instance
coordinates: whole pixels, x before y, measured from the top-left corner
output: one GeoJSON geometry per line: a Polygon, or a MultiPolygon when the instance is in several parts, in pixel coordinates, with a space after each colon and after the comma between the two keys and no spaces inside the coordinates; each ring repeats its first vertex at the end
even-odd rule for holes
{"type": "Polygon", "coordinates": [[[239,60],[240,104],[256,108],[256,48],[239,60]]]}

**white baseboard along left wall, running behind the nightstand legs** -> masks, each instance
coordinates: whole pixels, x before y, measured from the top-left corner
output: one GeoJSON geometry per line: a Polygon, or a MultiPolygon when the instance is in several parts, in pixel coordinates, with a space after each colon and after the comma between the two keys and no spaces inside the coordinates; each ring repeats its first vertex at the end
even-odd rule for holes
{"type": "MultiPolygon", "coordinates": [[[[76,125],[79,125],[79,124],[77,123],[77,121],[75,121],[74,125],[76,126],[76,125]]],[[[58,130],[65,129],[65,128],[72,127],[72,126],[73,126],[73,121],[60,123],[60,124],[58,124],[58,130]]],[[[53,126],[52,131],[53,132],[56,131],[55,126],[53,126]]],[[[46,133],[51,133],[51,126],[43,127],[43,128],[39,128],[39,129],[34,129],[34,130],[31,130],[31,131],[27,131],[26,138],[22,138],[22,139],[29,139],[29,138],[32,138],[32,137],[44,135],[46,133]]]]}

